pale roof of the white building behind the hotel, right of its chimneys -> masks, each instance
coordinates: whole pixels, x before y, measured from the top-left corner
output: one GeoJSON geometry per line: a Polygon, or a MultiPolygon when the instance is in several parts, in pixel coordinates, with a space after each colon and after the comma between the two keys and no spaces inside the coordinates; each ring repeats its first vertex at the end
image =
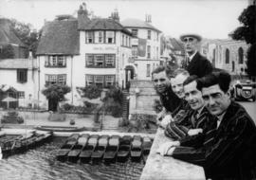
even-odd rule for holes
{"type": "Polygon", "coordinates": [[[153,29],[157,32],[161,32],[159,29],[152,26],[151,24],[149,24],[145,21],[138,20],[138,19],[125,19],[121,22],[121,25],[123,27],[149,28],[149,29],[153,29]]]}

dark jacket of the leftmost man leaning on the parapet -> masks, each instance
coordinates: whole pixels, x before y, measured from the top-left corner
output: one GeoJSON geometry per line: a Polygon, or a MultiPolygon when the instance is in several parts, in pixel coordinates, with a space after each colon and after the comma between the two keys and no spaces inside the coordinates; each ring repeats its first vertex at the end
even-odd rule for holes
{"type": "Polygon", "coordinates": [[[167,89],[167,91],[163,94],[159,94],[160,101],[163,107],[170,112],[173,113],[174,110],[180,105],[181,99],[179,99],[172,90],[171,86],[167,89]]]}

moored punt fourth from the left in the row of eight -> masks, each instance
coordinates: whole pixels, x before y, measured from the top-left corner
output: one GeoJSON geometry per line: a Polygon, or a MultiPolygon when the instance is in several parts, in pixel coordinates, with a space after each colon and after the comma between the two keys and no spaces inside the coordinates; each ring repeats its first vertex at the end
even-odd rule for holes
{"type": "Polygon", "coordinates": [[[101,135],[98,141],[98,146],[96,146],[91,156],[93,160],[100,160],[102,158],[108,145],[108,139],[109,135],[101,135]]]}

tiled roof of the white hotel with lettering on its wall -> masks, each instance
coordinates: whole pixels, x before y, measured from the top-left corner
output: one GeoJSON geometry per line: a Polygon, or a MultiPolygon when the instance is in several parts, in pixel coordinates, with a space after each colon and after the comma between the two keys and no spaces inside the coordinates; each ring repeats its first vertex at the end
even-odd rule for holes
{"type": "Polygon", "coordinates": [[[132,35],[132,33],[121,24],[119,24],[119,22],[110,18],[95,18],[91,19],[90,21],[88,19],[80,19],[79,21],[83,22],[80,23],[80,30],[120,30],[129,35],[132,35]]]}

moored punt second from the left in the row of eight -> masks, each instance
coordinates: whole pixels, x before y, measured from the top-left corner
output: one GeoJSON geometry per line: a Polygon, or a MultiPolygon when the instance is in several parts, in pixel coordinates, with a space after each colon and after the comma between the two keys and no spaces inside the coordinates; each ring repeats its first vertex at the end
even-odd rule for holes
{"type": "Polygon", "coordinates": [[[78,143],[72,148],[72,150],[67,154],[68,160],[71,162],[76,162],[79,159],[79,154],[82,152],[82,148],[85,147],[89,139],[89,134],[82,134],[78,143]]]}

